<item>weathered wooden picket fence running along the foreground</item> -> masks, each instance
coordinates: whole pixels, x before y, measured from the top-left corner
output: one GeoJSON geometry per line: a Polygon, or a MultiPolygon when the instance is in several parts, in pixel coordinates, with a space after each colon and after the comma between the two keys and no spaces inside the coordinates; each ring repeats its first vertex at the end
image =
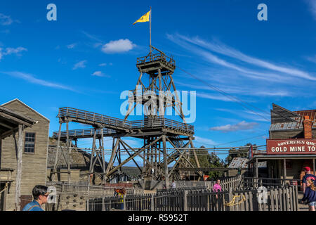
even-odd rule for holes
{"type": "Polygon", "coordinates": [[[169,191],[87,200],[87,211],[298,211],[297,186],[222,191],[169,191]],[[265,196],[261,202],[259,196],[265,196]]]}

